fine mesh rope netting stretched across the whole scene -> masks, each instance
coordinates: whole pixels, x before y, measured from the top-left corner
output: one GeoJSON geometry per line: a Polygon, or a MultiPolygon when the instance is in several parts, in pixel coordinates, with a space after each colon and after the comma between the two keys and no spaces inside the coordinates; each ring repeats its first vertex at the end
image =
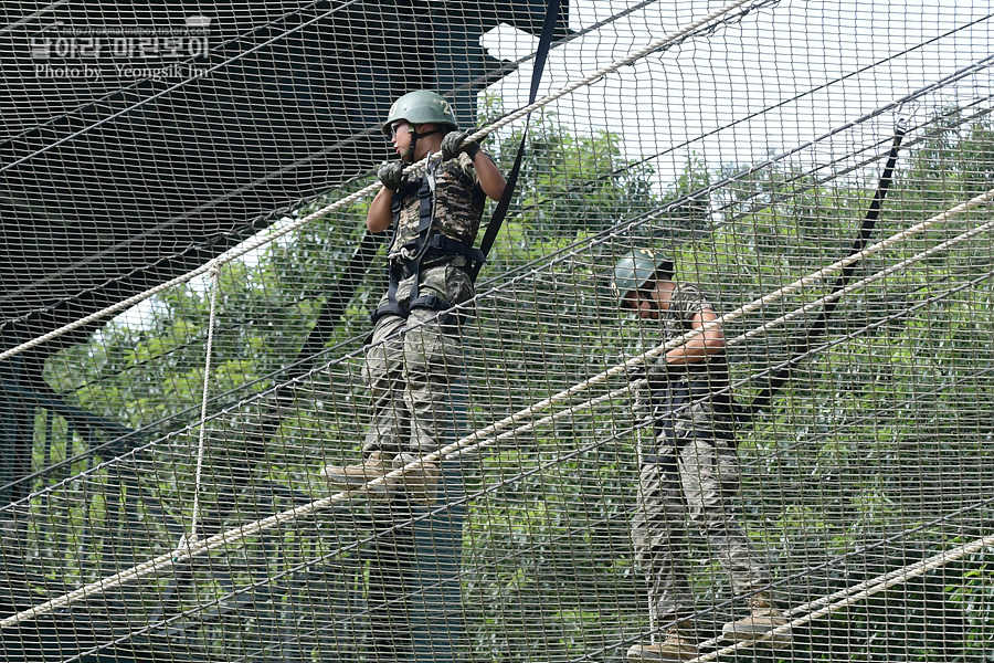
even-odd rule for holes
{"type": "MultiPolygon", "coordinates": [[[[190,118],[213,117],[191,91],[234,98],[252,80],[283,95],[219,113],[203,155],[232,137],[251,151],[262,124],[286,127],[285,145],[257,138],[272,158],[239,164],[231,149],[203,188],[191,178],[197,194],[149,212],[152,230],[126,227],[86,255],[42,251],[55,266],[41,272],[11,250],[7,660],[658,660],[652,645],[677,618],[694,650],[676,660],[990,660],[991,8],[573,0],[530,103],[543,4],[198,6],[200,22],[169,36],[204,50],[169,60],[148,30],[167,67],[148,75],[125,74],[142,70],[130,51],[101,60],[113,31],[86,42],[70,28],[155,28],[154,12],[70,2],[7,19],[12,44],[49,49],[32,51],[49,70],[30,76],[99,71],[66,74],[47,104],[28,70],[8,84],[32,98],[4,130],[11,236],[9,210],[30,207],[70,155],[72,190],[25,211],[31,222],[85,227],[101,212],[87,169],[96,189],[109,176],[128,187],[115,189],[121,209],[163,202],[145,178],[171,178],[175,164],[118,169],[99,160],[102,141],[124,123],[149,131],[148,156],[175,160],[184,138],[208,135],[190,118]],[[503,65],[479,73],[484,53],[503,65]],[[348,123],[297,139],[322,126],[302,118],[326,70],[329,87],[348,71],[352,87],[320,97],[348,123]],[[342,491],[322,467],[369,457],[382,421],[367,356],[396,343],[368,338],[385,287],[385,252],[363,223],[385,155],[379,123],[422,87],[453,101],[505,172],[530,115],[527,149],[476,294],[445,326],[458,369],[433,387],[446,403],[436,446],[342,491]],[[346,164],[321,170],[335,159],[346,164]],[[216,225],[180,238],[178,219],[204,210],[216,225]],[[173,232],[179,243],[149,250],[173,232]],[[130,260],[104,264],[121,246],[130,260]],[[620,308],[615,265],[643,248],[667,255],[713,318],[664,337],[620,308]],[[644,408],[646,369],[715,330],[728,378],[683,408],[757,404],[716,460],[730,506],[723,520],[696,512],[698,483],[653,511],[643,495],[666,424],[644,408]],[[422,503],[426,463],[437,490],[422,503]],[[638,524],[660,520],[679,523],[639,544],[638,524]],[[733,636],[726,624],[757,597],[782,619],[733,636]]],[[[699,461],[679,444],[673,471],[686,477],[699,461]]]]}

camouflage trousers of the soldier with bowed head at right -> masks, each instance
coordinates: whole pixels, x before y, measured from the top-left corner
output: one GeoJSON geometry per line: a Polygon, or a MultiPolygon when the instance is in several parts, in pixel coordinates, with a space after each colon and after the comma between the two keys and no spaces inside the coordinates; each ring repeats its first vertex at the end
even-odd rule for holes
{"type": "Polygon", "coordinates": [[[673,421],[672,433],[660,431],[656,436],[654,453],[643,454],[632,538],[636,564],[649,586],[651,614],[658,622],[695,611],[688,582],[688,524],[706,537],[736,593],[770,582],[737,523],[733,501],[739,493],[739,463],[733,424],[719,419],[705,425],[702,419],[673,421]]]}

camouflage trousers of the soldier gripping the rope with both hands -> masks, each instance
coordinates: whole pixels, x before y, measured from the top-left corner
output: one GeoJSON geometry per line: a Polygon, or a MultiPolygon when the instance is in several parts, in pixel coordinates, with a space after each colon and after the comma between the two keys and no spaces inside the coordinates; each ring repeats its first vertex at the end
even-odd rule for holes
{"type": "MultiPolygon", "coordinates": [[[[401,306],[410,302],[412,286],[412,280],[400,283],[396,301],[401,306]]],[[[417,294],[457,304],[472,296],[473,285],[458,264],[450,263],[423,270],[417,294]]],[[[384,295],[380,304],[385,301],[384,295]]],[[[362,369],[372,398],[363,453],[424,454],[454,442],[451,387],[463,364],[454,316],[415,308],[406,318],[381,317],[366,346],[362,369]]]]}

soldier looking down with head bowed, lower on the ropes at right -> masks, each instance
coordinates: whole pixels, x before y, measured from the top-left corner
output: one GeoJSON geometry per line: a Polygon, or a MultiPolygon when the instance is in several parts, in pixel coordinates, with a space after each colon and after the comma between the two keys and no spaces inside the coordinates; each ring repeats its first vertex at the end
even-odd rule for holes
{"type": "MultiPolygon", "coordinates": [[[[751,614],[729,622],[723,634],[752,640],[784,625],[765,588],[770,575],[757,560],[736,522],[739,488],[736,422],[725,335],[708,298],[691,284],[676,283],[673,263],[645,249],[615,267],[618,303],[663,326],[664,343],[699,329],[683,345],[648,362],[639,376],[637,409],[651,413],[651,442],[639,449],[638,511],[632,526],[636,562],[649,583],[651,622],[672,624],[663,642],[636,644],[631,661],[681,661],[698,655],[688,583],[686,522],[708,538],[737,594],[753,594],[751,614]]],[[[785,644],[790,633],[778,633],[785,644]]]]}

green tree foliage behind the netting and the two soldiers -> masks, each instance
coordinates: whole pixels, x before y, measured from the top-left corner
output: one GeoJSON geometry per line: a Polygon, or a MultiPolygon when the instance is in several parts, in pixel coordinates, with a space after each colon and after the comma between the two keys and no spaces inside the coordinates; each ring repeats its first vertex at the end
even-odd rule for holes
{"type": "MultiPolygon", "coordinates": [[[[485,116],[497,108],[490,99],[485,116]]],[[[907,149],[876,238],[991,188],[990,119],[948,113],[934,125],[941,128],[907,149]]],[[[511,130],[486,143],[505,171],[519,140],[511,130]]],[[[657,329],[618,322],[604,276],[615,251],[638,242],[672,246],[678,276],[704,283],[727,312],[845,255],[875,185],[775,164],[688,196],[742,168],[691,157],[664,188],[648,165],[623,156],[617,136],[571,134],[552,114],[533,119],[527,145],[518,192],[482,274],[478,309],[464,329],[474,427],[658,343],[657,329]],[[604,231],[618,223],[633,227],[624,242],[611,242],[604,231]],[[496,284],[501,290],[489,292],[496,284]]],[[[209,381],[210,411],[218,414],[207,428],[203,492],[210,532],[326,495],[313,478],[320,464],[358,455],[368,402],[361,341],[383,285],[381,260],[342,320],[325,330],[321,357],[303,367],[292,389],[281,386],[335,296],[363,218],[362,204],[340,210],[221,271],[209,381]]],[[[867,260],[854,278],[981,218],[964,214],[867,260]]],[[[742,431],[744,516],[775,575],[796,576],[784,583],[786,599],[831,593],[983,532],[991,512],[981,503],[994,487],[984,472],[994,451],[994,316],[990,277],[977,277],[992,263],[994,246],[981,235],[847,295],[787,386],[742,431]]],[[[743,316],[726,334],[736,338],[770,323],[833,283],[743,316]]],[[[39,532],[59,533],[36,541],[34,554],[59,569],[47,582],[96,579],[171,548],[188,529],[210,294],[203,282],[177,287],[144,307],[140,324],[118,319],[50,361],[49,383],[73,404],[141,429],[157,446],[39,501],[51,525],[39,532]]],[[[764,387],[765,369],[799,348],[817,311],[730,348],[742,402],[764,387]]],[[[40,441],[63,436],[36,445],[40,465],[84,451],[85,441],[60,425],[39,424],[40,441]]],[[[635,425],[627,398],[607,399],[467,463],[461,582],[475,660],[620,660],[625,642],[645,631],[645,587],[628,540],[634,441],[646,434],[635,425]]],[[[84,459],[71,470],[94,464],[84,459]]],[[[52,478],[40,477],[35,487],[52,478]]],[[[362,611],[358,541],[369,529],[353,511],[363,509],[253,538],[224,564],[215,558],[213,567],[189,569],[191,580],[163,582],[142,609],[171,614],[278,577],[246,592],[241,613],[219,609],[213,622],[191,632],[219,660],[231,655],[229,643],[239,640],[232,633],[254,651],[266,646],[260,633],[289,631],[298,634],[288,640],[298,648],[294,655],[319,656],[329,643],[352,655],[362,649],[352,620],[364,619],[350,617],[362,611]],[[294,600],[309,606],[314,623],[299,625],[294,600]]],[[[695,545],[701,607],[730,599],[716,565],[695,545]]],[[[888,590],[799,633],[785,656],[981,660],[994,597],[986,565],[977,555],[888,590]]],[[[702,617],[706,625],[731,614],[722,606],[702,617]]]]}

